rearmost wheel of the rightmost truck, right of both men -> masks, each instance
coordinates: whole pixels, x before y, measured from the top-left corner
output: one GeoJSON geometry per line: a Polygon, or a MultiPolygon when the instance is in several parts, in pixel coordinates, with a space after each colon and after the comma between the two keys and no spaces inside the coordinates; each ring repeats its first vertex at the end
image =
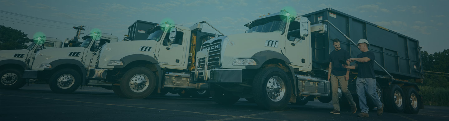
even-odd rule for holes
{"type": "Polygon", "coordinates": [[[418,114],[419,112],[419,100],[418,100],[418,92],[416,92],[415,88],[407,87],[404,88],[405,94],[405,113],[410,114],[418,114]]]}

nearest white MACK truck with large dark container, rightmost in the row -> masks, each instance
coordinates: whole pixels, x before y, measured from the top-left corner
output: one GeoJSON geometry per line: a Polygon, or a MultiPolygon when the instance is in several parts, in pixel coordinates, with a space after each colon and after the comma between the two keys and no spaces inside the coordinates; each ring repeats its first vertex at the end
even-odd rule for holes
{"type": "MultiPolygon", "coordinates": [[[[210,83],[211,96],[219,104],[234,104],[240,97],[270,110],[289,102],[306,104],[315,97],[328,103],[331,39],[339,38],[341,48],[357,57],[361,52],[351,39],[364,38],[379,62],[376,91],[386,109],[418,113],[422,107],[418,86],[408,82],[422,79],[419,45],[413,38],[331,8],[304,16],[282,10],[245,26],[247,33],[213,38],[197,53],[192,83],[210,83]]],[[[354,101],[356,76],[352,70],[348,81],[354,101]]]]}

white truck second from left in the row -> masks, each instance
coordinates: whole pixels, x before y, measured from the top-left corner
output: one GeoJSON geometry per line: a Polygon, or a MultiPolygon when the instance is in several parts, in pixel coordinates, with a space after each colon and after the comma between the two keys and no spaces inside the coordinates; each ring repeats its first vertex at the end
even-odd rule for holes
{"type": "Polygon", "coordinates": [[[46,80],[50,89],[57,93],[74,92],[80,85],[110,88],[110,84],[88,80],[86,76],[87,70],[95,66],[97,50],[106,43],[117,42],[118,38],[94,32],[84,36],[83,40],[79,47],[37,51],[30,63],[31,69],[24,72],[24,78],[46,80]]]}

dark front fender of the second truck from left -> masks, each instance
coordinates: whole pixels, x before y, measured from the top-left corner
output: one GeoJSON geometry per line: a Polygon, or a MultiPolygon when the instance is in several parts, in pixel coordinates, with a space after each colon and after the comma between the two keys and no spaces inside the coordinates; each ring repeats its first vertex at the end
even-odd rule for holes
{"type": "Polygon", "coordinates": [[[87,83],[86,82],[87,71],[84,68],[84,64],[79,62],[78,60],[75,60],[75,59],[58,59],[58,60],[55,60],[53,62],[50,62],[50,65],[52,65],[52,68],[45,68],[44,70],[45,71],[53,70],[55,67],[58,67],[59,65],[62,65],[62,64],[75,64],[76,66],[78,66],[79,70],[81,70],[81,73],[82,73],[81,76],[83,77],[83,85],[86,85],[86,83],[87,83]]]}

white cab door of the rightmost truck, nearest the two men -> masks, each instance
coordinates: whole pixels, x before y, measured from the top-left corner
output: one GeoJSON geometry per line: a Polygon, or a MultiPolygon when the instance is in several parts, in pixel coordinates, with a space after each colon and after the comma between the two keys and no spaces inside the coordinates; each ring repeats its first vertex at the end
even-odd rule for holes
{"type": "MultiPolygon", "coordinates": [[[[310,40],[301,38],[299,34],[299,19],[290,22],[285,42],[285,55],[292,62],[291,65],[307,67],[311,63],[310,56],[310,40]],[[296,30],[296,31],[295,31],[296,30]],[[295,43],[292,45],[292,43],[295,43]]],[[[310,36],[310,35],[309,35],[310,36]]]]}

